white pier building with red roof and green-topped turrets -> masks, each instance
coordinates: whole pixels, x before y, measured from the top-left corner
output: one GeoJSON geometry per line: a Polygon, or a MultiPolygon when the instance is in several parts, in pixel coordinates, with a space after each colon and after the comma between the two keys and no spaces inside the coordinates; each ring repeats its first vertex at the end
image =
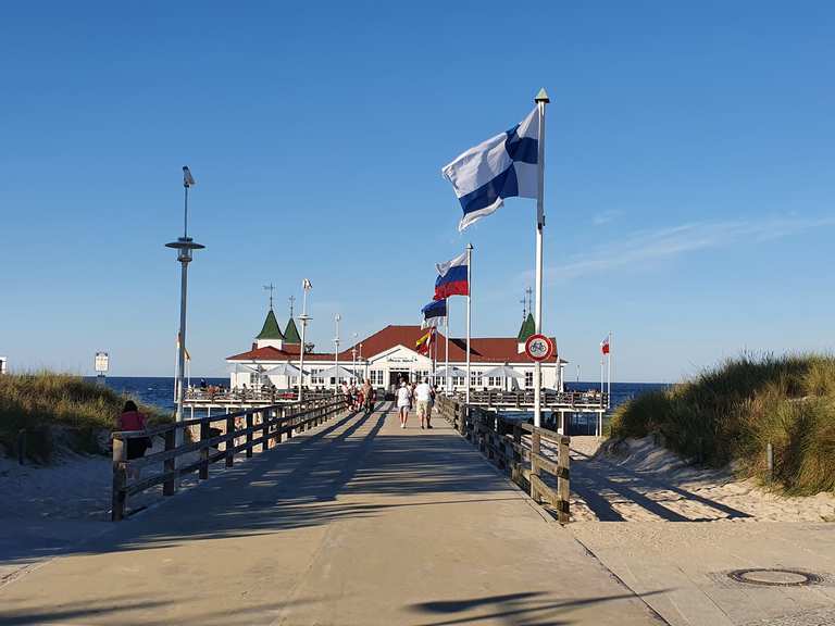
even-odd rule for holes
{"type": "MultiPolygon", "coordinates": [[[[534,320],[528,315],[516,337],[489,337],[471,339],[471,388],[501,389],[533,388],[534,362],[524,353],[524,342],[534,331],[534,320]],[[519,378],[501,378],[487,376],[486,372],[499,365],[509,365],[519,378]]],[[[382,330],[359,341],[356,346],[341,351],[338,363],[341,367],[354,372],[358,379],[369,378],[375,387],[390,389],[398,379],[415,380],[429,376],[433,371],[445,366],[446,340],[441,333],[435,336],[432,347],[432,358],[418,353],[416,341],[425,334],[420,326],[389,325],[382,330]],[[435,363],[435,367],[433,366],[435,363]]],[[[264,326],[256,337],[252,348],[240,354],[226,359],[233,366],[229,375],[230,388],[259,388],[263,385],[275,385],[278,389],[288,389],[298,385],[296,376],[270,374],[283,364],[299,366],[300,339],[296,323],[290,318],[284,331],[272,310],[266,314],[264,326]]],[[[333,352],[304,352],[303,385],[309,388],[333,388],[337,384],[335,376],[327,378],[322,372],[336,363],[333,352]]],[[[543,363],[543,386],[547,389],[562,390],[564,381],[564,364],[566,361],[551,358],[543,363]]],[[[466,340],[463,338],[449,339],[449,365],[458,370],[466,368],[466,340]]],[[[346,378],[352,378],[346,376],[346,378]]],[[[346,380],[340,378],[339,383],[346,380]]],[[[444,387],[444,377],[437,377],[435,383],[444,387]]],[[[452,377],[453,389],[464,389],[464,376],[452,377]]]]}

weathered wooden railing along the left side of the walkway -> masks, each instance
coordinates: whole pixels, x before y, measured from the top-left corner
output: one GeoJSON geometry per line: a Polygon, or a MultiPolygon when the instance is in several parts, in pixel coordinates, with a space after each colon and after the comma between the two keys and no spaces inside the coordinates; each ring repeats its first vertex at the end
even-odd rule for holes
{"type": "Polygon", "coordinates": [[[304,400],[296,404],[273,404],[248,409],[227,415],[199,417],[183,422],[153,426],[141,431],[113,433],[113,506],[111,518],[122,519],[125,513],[127,497],[140,493],[157,485],[162,485],[163,496],[173,496],[177,478],[192,472],[199,473],[200,479],[209,477],[209,465],[225,461],[226,467],[232,467],[235,454],[246,451],[247,458],[252,456],[256,446],[261,452],[269,450],[284,439],[292,437],[316,426],[334,415],[347,410],[345,399],[339,397],[304,400]],[[214,428],[212,424],[223,423],[224,428],[214,428]],[[177,433],[183,442],[177,446],[177,433]],[[186,433],[196,434],[187,440],[186,433]],[[127,460],[127,442],[132,439],[162,437],[165,448],[161,452],[148,454],[140,459],[127,460]],[[223,445],[223,449],[220,446],[223,445]],[[185,465],[176,460],[184,454],[197,452],[199,458],[185,465]],[[134,470],[162,463],[162,473],[142,479],[130,478],[134,470]]]}

